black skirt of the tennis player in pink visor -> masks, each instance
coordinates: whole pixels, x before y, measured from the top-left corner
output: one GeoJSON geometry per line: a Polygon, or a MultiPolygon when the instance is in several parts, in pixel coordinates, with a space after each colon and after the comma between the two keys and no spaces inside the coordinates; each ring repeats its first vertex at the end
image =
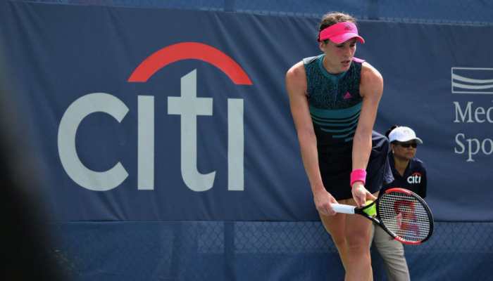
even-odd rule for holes
{"type": "MultiPolygon", "coordinates": [[[[389,141],[385,136],[373,131],[372,149],[368,166],[366,167],[365,188],[371,193],[375,193],[382,188],[384,183],[392,183],[394,176],[389,166],[389,141]]],[[[325,189],[335,198],[335,200],[352,198],[351,171],[353,143],[344,143],[337,147],[319,147],[318,164],[322,181],[325,189]]]]}

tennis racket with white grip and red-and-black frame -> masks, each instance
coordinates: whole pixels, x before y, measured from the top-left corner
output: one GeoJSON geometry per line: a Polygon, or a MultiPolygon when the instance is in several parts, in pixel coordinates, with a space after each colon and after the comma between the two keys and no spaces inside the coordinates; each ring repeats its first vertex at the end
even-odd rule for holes
{"type": "Polygon", "coordinates": [[[368,218],[404,244],[423,243],[433,233],[433,216],[428,204],[419,195],[404,188],[390,188],[365,207],[346,204],[331,206],[337,213],[359,214],[368,218]]]}

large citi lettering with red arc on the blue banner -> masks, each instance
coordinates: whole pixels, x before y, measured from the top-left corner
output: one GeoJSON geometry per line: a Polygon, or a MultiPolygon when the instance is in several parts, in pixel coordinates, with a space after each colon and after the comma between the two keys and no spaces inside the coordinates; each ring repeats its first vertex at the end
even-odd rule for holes
{"type": "MultiPolygon", "coordinates": [[[[251,85],[246,72],[235,60],[217,48],[196,42],[183,42],[149,55],[128,78],[144,83],[158,70],[180,60],[202,60],[229,77],[237,85],[251,85]]],[[[168,96],[168,115],[180,116],[180,169],[190,190],[213,187],[216,171],[201,174],[197,169],[197,117],[213,115],[213,98],[196,96],[196,70],[180,79],[180,96],[168,96]]],[[[227,190],[244,190],[244,103],[242,98],[227,98],[227,190]]],[[[154,96],[137,96],[137,189],[154,190],[154,96]]],[[[110,93],[88,93],[65,110],[58,127],[58,155],[65,172],[82,188],[106,191],[117,188],[128,173],[116,163],[107,171],[94,171],[77,156],[75,138],[82,119],[95,112],[111,115],[122,122],[129,111],[122,100],[110,93]]]]}

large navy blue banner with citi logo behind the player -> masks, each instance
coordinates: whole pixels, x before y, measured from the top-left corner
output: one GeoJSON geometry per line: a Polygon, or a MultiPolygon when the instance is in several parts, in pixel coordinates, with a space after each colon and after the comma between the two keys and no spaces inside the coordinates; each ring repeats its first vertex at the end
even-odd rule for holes
{"type": "MultiPolygon", "coordinates": [[[[11,1],[0,18],[55,220],[318,219],[284,86],[318,20],[11,1]]],[[[492,27],[359,25],[385,80],[375,129],[423,139],[435,218],[492,221],[492,27]]]]}

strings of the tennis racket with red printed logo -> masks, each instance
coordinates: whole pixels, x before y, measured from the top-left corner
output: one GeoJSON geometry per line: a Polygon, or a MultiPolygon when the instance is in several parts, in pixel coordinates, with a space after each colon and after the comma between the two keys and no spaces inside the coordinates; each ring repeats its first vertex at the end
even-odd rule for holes
{"type": "Polygon", "coordinates": [[[378,214],[387,230],[408,242],[419,242],[430,233],[430,217],[423,204],[403,192],[382,195],[378,214]]]}

